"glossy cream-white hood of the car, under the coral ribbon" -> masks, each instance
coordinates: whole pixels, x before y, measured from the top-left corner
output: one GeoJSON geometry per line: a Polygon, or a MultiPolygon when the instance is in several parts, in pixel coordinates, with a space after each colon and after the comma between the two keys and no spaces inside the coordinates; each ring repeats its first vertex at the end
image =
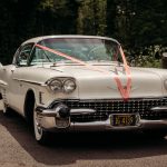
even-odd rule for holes
{"type": "MultiPolygon", "coordinates": [[[[122,87],[127,85],[127,76],[124,67],[96,66],[97,69],[105,69],[101,72],[84,66],[53,67],[52,70],[60,70],[76,78],[79,98],[81,99],[106,99],[122,98],[115,80],[116,72],[119,76],[122,87]]],[[[156,70],[144,68],[130,68],[131,89],[130,98],[161,97],[164,96],[164,81],[156,70]]]]}

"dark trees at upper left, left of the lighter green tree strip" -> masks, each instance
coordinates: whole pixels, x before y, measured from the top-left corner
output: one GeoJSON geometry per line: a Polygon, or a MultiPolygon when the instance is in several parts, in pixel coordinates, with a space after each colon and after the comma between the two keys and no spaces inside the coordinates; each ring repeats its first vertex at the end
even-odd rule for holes
{"type": "Polygon", "coordinates": [[[75,0],[6,0],[0,3],[0,61],[11,63],[24,40],[47,35],[76,33],[75,0]]]}

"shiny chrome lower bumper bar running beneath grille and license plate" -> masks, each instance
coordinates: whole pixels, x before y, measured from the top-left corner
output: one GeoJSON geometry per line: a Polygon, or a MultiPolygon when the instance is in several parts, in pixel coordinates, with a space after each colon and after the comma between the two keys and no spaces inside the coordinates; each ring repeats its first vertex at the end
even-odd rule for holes
{"type": "Polygon", "coordinates": [[[53,131],[105,131],[105,130],[141,130],[141,129],[157,129],[157,128],[167,128],[167,119],[163,120],[146,120],[139,119],[137,126],[129,127],[114,127],[110,124],[110,119],[105,121],[92,121],[92,122],[70,122],[69,127],[60,128],[56,126],[56,115],[53,111],[48,112],[38,112],[39,124],[46,130],[53,131]]]}

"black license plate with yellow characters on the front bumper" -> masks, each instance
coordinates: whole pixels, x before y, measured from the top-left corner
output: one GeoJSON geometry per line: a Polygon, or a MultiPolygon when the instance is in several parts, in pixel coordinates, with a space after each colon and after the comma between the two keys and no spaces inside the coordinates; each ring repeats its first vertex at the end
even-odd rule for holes
{"type": "Polygon", "coordinates": [[[137,115],[126,115],[126,114],[120,114],[120,115],[111,115],[110,116],[110,124],[111,126],[116,127],[126,127],[126,126],[136,126],[137,125],[137,115]]]}

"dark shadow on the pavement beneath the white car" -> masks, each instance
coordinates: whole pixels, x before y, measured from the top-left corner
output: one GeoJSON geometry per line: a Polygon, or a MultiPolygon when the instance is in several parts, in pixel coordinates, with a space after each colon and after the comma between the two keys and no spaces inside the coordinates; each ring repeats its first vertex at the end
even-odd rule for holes
{"type": "Polygon", "coordinates": [[[145,138],[135,132],[55,134],[49,146],[38,145],[24,119],[17,114],[4,117],[4,126],[21,147],[38,163],[70,165],[77,160],[134,159],[167,155],[166,139],[145,138]]]}

